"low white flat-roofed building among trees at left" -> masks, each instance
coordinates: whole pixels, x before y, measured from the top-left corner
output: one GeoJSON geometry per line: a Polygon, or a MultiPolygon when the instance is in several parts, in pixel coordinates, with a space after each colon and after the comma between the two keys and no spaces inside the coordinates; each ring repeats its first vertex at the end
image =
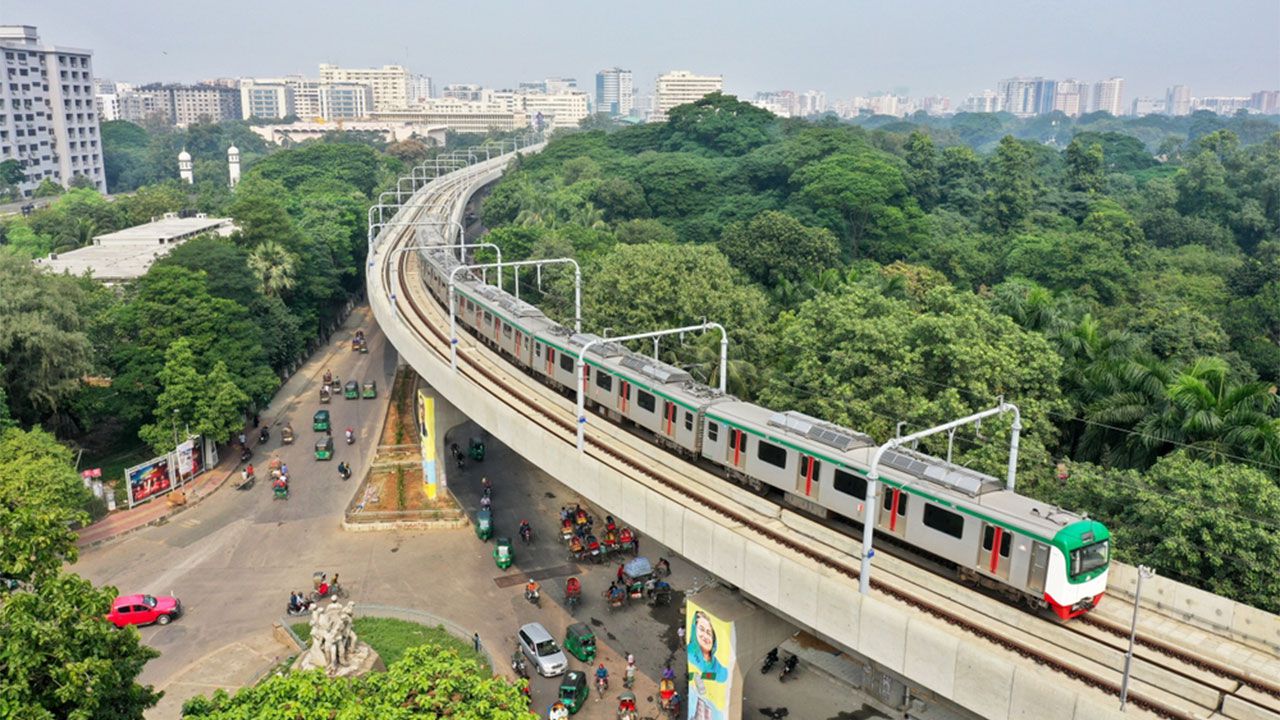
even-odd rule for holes
{"type": "Polygon", "coordinates": [[[230,218],[210,218],[204,213],[195,218],[165,213],[159,220],[100,234],[93,238],[93,245],[38,258],[36,266],[73,275],[88,272],[105,284],[118,284],[141,278],[157,258],[209,232],[225,237],[236,232],[236,225],[230,218]]]}

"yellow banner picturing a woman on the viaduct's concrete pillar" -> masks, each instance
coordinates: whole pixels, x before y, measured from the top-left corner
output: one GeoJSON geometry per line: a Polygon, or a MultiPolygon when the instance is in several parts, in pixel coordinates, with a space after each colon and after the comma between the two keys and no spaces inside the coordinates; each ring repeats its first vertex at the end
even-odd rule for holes
{"type": "Polygon", "coordinates": [[[686,601],[685,638],[689,656],[687,720],[726,720],[733,684],[733,623],[726,623],[686,601]]]}

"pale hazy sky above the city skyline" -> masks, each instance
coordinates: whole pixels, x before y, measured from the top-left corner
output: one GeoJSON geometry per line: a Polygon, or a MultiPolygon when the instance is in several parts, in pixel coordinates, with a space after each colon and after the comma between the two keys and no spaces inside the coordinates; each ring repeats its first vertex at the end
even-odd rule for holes
{"type": "Polygon", "coordinates": [[[3,0],[0,23],[95,51],[127,82],[316,76],[403,64],[447,83],[513,87],[620,65],[652,94],[668,69],[739,95],[948,95],[1000,78],[1125,78],[1125,104],[1280,88],[1280,0],[3,0]]]}

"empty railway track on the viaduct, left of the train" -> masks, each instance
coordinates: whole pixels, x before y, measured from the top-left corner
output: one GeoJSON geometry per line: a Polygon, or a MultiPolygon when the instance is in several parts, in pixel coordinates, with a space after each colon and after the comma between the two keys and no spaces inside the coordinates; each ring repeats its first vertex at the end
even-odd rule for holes
{"type": "MultiPolygon", "coordinates": [[[[410,217],[422,211],[443,214],[457,202],[466,186],[466,179],[445,176],[411,199],[401,213],[410,217]]],[[[384,237],[384,252],[402,246],[407,234],[406,229],[396,229],[390,237],[384,237]]],[[[401,254],[394,263],[396,277],[392,263],[384,263],[380,279],[387,290],[396,293],[396,310],[406,320],[407,329],[424,347],[448,363],[449,338],[442,329],[448,325],[448,319],[420,282],[417,263],[416,254],[401,254]]],[[[468,336],[463,336],[458,345],[458,372],[558,441],[575,442],[576,425],[568,401],[480,351],[479,343],[468,336]]],[[[813,543],[800,543],[788,532],[791,528],[780,520],[781,507],[772,514],[760,512],[756,503],[739,502],[741,495],[726,498],[719,488],[713,489],[705,480],[691,483],[687,479],[690,466],[684,460],[640,443],[643,439],[608,423],[594,424],[586,436],[588,452],[595,459],[625,468],[626,474],[678,495],[686,505],[749,528],[780,548],[809,557],[850,579],[858,577],[856,559],[842,550],[852,547],[851,543],[837,546],[828,542],[831,552],[815,550],[813,543]]],[[[724,484],[723,480],[714,480],[724,484]]],[[[888,569],[887,562],[883,566],[888,569]]],[[[890,571],[882,570],[872,587],[1046,667],[1119,696],[1126,629],[1117,634],[1117,628],[1102,620],[1066,625],[1047,621],[982,593],[968,592],[968,588],[964,588],[966,592],[957,592],[961,587],[957,584],[947,583],[940,592],[934,589],[938,587],[937,575],[913,575],[909,569],[893,566],[890,571]],[[883,579],[886,577],[891,579],[883,579]],[[963,601],[956,600],[957,594],[963,601]]],[[[1164,717],[1280,719],[1280,683],[1206,660],[1158,638],[1142,637],[1134,655],[1129,702],[1164,717]]]]}

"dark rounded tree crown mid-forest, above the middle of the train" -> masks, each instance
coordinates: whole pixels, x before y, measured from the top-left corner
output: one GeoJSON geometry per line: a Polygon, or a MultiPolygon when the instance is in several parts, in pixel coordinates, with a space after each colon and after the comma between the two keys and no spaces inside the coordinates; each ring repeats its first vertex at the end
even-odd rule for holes
{"type": "Polygon", "coordinates": [[[829,231],[805,227],[776,210],[726,227],[719,249],[735,268],[767,287],[783,278],[799,282],[840,263],[840,247],[829,231]]]}

